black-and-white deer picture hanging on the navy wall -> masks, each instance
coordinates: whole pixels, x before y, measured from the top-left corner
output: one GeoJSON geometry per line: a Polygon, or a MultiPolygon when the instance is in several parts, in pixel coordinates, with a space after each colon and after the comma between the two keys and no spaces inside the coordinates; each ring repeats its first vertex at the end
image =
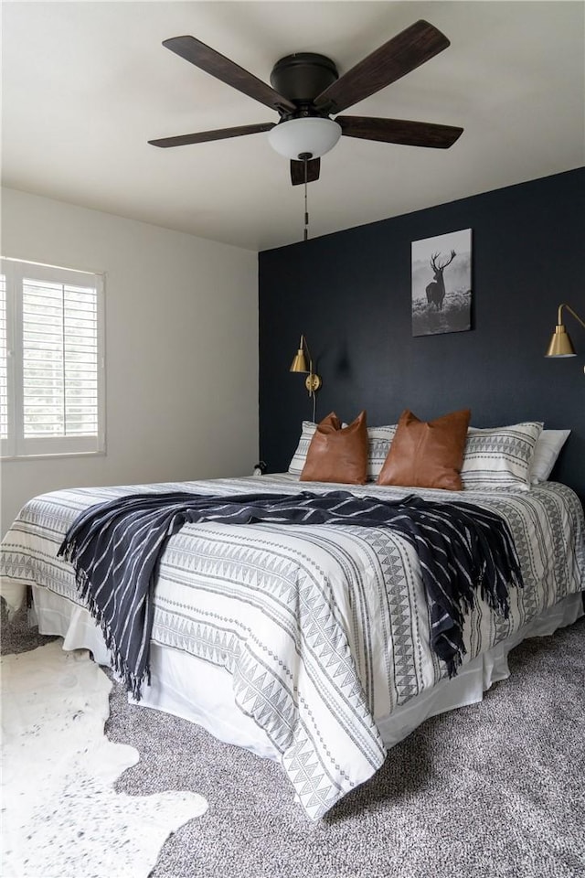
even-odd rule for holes
{"type": "Polygon", "coordinates": [[[412,335],[471,329],[472,230],[412,241],[412,335]]]}

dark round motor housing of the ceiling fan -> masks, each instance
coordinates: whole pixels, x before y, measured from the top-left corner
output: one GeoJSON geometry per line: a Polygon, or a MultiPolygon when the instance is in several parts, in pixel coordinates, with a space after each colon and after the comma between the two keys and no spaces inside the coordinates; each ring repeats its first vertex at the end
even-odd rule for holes
{"type": "Polygon", "coordinates": [[[337,79],[334,62],[314,52],[287,55],[276,62],[271,72],[272,88],[298,104],[303,115],[322,115],[314,108],[309,110],[308,105],[337,79]]]}

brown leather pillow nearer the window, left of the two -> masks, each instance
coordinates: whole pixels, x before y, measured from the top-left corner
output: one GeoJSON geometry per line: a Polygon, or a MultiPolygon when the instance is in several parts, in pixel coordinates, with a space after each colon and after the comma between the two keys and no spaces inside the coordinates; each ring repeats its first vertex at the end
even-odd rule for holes
{"type": "Polygon", "coordinates": [[[343,482],[365,485],[367,481],[366,412],[342,427],[335,412],[317,424],[301,473],[302,482],[343,482]]]}

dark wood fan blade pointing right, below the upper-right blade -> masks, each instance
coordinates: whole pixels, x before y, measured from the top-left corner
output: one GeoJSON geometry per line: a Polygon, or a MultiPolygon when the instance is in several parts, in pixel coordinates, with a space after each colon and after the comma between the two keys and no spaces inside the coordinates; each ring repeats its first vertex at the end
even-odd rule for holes
{"type": "Polygon", "coordinates": [[[454,128],[452,125],[409,122],[406,119],[336,116],[335,122],[341,125],[341,133],[346,137],[379,140],[384,144],[432,146],[436,149],[447,149],[463,134],[463,128],[454,128]]]}

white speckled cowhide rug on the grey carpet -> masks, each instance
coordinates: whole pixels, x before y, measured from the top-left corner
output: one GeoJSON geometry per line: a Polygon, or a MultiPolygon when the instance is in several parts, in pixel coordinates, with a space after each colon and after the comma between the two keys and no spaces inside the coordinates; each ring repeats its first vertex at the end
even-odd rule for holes
{"type": "Polygon", "coordinates": [[[145,878],[207,801],[114,791],[138,751],[103,733],[111,681],[87,651],[61,644],[1,660],[3,878],[145,878]]]}

